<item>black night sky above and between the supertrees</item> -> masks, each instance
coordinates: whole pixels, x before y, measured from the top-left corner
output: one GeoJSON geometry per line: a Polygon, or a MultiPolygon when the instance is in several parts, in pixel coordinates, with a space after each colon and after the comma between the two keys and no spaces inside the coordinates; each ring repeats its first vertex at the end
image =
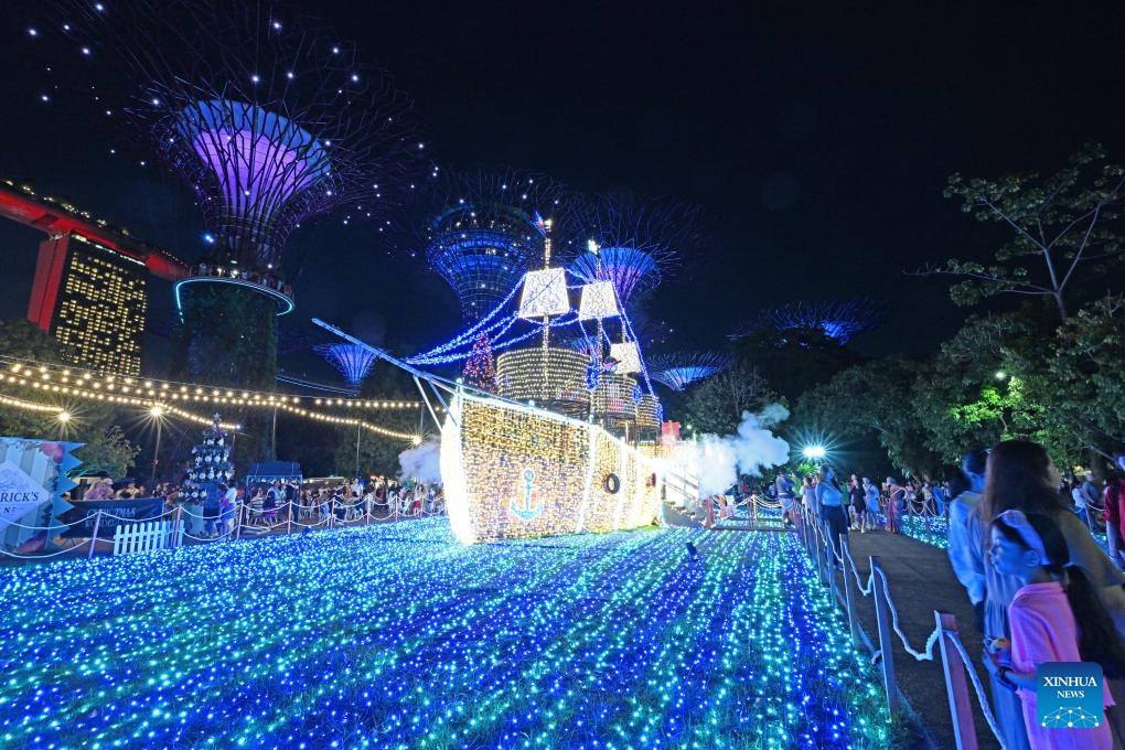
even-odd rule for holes
{"type": "MultiPolygon", "coordinates": [[[[682,249],[649,302],[675,331],[666,349],[720,347],[760,307],[871,296],[891,316],[855,343],[882,354],[930,350],[964,315],[943,280],[904,270],[987,259],[1006,237],[942,197],[951,173],[1053,171],[1092,141],[1125,160],[1119,2],[915,4],[300,8],[396,76],[444,169],[510,164],[584,192],[699,204],[704,240],[682,249]]],[[[42,22],[36,6],[0,21],[0,177],[32,179],[40,195],[195,259],[204,227],[177,179],[141,168],[138,152],[110,156],[112,130],[93,111],[39,101],[43,58],[26,31],[42,22]]],[[[63,48],[57,60],[81,64],[63,48]]],[[[298,309],[285,328],[312,333],[308,318],[324,317],[406,353],[457,331],[444,281],[375,236],[331,217],[292,235],[298,309]]],[[[26,313],[38,238],[0,223],[2,317],[26,313]]],[[[332,377],[299,358],[282,367],[332,377]]]]}

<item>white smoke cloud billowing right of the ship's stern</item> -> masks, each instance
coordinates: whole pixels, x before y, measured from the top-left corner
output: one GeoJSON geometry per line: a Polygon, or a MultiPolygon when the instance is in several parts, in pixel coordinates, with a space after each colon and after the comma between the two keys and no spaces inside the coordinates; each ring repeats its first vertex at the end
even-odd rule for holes
{"type": "Polygon", "coordinates": [[[756,476],[766,467],[789,461],[789,443],[768,430],[788,417],[785,407],[771,404],[759,414],[742,412],[737,435],[703,435],[696,443],[688,443],[700,496],[721,494],[741,475],[756,476]]]}

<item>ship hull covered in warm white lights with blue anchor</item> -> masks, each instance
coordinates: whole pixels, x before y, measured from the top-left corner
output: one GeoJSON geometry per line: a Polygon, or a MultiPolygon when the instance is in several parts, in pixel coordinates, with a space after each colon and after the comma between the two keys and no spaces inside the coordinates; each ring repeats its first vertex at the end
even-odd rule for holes
{"type": "Polygon", "coordinates": [[[441,475],[464,543],[663,523],[657,463],[598,425],[458,394],[441,475]]]}

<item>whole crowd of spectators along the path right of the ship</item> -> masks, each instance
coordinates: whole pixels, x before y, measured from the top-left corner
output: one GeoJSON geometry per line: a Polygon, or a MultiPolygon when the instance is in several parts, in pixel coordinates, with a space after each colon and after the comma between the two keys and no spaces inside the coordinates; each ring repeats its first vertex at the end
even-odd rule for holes
{"type": "MultiPolygon", "coordinates": [[[[1063,479],[1047,451],[1005,441],[965,454],[948,481],[875,484],[831,468],[781,471],[752,500],[776,500],[786,524],[814,518],[831,539],[902,533],[904,514],[948,519],[948,557],[984,634],[992,711],[1010,750],[1125,748],[1125,455],[1101,481],[1063,479]],[[803,512],[802,512],[803,509],[803,512]],[[881,521],[881,523],[880,523],[881,521]],[[1105,532],[1104,549],[1095,535],[1105,532]],[[1053,731],[1036,714],[1036,668],[1088,661],[1105,675],[1105,721],[1053,731]]],[[[837,564],[842,561],[837,560],[837,564]]]]}

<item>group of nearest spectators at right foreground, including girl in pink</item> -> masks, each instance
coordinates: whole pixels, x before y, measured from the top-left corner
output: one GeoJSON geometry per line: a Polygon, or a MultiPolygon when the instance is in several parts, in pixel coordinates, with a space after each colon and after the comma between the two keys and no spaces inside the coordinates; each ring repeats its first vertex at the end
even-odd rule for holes
{"type": "MultiPolygon", "coordinates": [[[[1115,475],[1125,470],[1118,463],[1115,475]]],[[[1091,533],[1102,521],[1109,539],[1119,534],[1120,478],[1099,487],[1086,472],[1063,482],[1047,451],[1022,440],[966,453],[962,473],[964,489],[950,507],[950,561],[984,633],[1005,747],[1123,747],[1125,575],[1118,548],[1107,552],[1091,533]],[[1066,731],[1040,723],[1035,671],[1053,661],[1101,666],[1107,721],[1066,731]]]]}

